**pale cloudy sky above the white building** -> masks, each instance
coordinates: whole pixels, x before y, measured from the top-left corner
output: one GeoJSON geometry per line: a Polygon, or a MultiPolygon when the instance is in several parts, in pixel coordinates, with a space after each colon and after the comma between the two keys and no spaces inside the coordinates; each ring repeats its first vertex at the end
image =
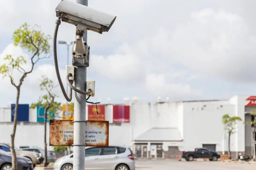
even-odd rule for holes
{"type": "MultiPolygon", "coordinates": [[[[76,0],[69,0],[76,2],[76,0]]],[[[96,81],[91,102],[122,103],[229,99],[256,95],[256,21],[254,0],[88,0],[88,6],[116,16],[108,32],[88,31],[90,67],[87,79],[96,81]]],[[[53,36],[55,8],[60,0],[4,0],[0,6],[0,65],[7,54],[31,54],[13,45],[12,34],[23,23],[38,24],[53,36]]],[[[62,22],[58,40],[75,40],[75,26],[62,22]]],[[[50,41],[52,47],[52,41],[50,41]]],[[[71,49],[71,47],[70,47],[71,49]]],[[[62,81],[67,46],[58,44],[62,81]]],[[[71,51],[71,50],[70,50],[71,51]]],[[[69,65],[72,63],[69,54],[69,65]]],[[[28,65],[29,67],[29,65],[28,65]]],[[[21,86],[20,104],[44,94],[40,78],[58,84],[53,53],[35,65],[21,86]]],[[[15,81],[20,74],[14,73],[15,81]]],[[[64,82],[64,85],[66,83],[64,82]]],[[[16,89],[0,77],[0,107],[15,102],[16,89]]],[[[54,92],[65,102],[60,87],[54,92]]]]}

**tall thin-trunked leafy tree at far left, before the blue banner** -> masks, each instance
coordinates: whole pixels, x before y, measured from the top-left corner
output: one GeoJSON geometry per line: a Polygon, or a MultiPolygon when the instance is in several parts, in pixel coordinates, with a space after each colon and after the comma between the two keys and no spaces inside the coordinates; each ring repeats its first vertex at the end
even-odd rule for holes
{"type": "Polygon", "coordinates": [[[14,110],[13,130],[11,134],[11,154],[12,154],[12,170],[17,170],[17,156],[15,153],[15,133],[17,127],[17,110],[20,99],[20,88],[24,82],[24,79],[28,74],[32,73],[35,64],[44,58],[49,58],[46,55],[50,53],[49,35],[42,33],[39,26],[29,26],[24,23],[20,28],[14,31],[12,40],[14,45],[19,45],[21,48],[29,51],[31,57],[25,59],[24,56],[14,57],[12,55],[6,55],[4,58],[4,64],[0,65],[0,74],[3,78],[8,77],[11,84],[16,88],[16,102],[14,110]],[[44,55],[44,57],[42,57],[44,55]],[[20,78],[13,77],[14,72],[20,73],[20,78]]]}

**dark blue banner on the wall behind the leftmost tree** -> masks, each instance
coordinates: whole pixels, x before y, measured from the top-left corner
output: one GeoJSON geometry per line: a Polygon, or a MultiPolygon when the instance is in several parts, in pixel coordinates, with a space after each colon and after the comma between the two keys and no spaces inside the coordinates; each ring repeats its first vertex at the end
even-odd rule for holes
{"type": "MultiPolygon", "coordinates": [[[[11,105],[11,120],[14,120],[15,104],[11,105]]],[[[29,122],[29,105],[19,104],[17,111],[17,121],[18,122],[29,122]]]]}

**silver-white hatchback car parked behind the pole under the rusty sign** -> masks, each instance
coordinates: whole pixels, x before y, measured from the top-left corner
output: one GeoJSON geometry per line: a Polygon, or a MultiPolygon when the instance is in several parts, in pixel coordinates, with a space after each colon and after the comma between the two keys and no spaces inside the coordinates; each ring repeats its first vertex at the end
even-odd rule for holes
{"type": "MultiPolygon", "coordinates": [[[[73,170],[73,153],[57,159],[54,170],[73,170]]],[[[85,170],[135,170],[134,154],[123,146],[88,147],[85,170]]]]}

